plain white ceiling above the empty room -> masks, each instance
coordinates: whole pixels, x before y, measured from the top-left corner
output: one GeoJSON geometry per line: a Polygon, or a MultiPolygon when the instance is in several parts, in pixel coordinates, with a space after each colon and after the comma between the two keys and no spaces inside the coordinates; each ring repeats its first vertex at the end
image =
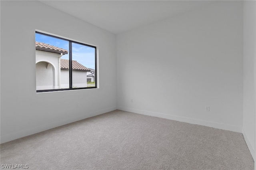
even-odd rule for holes
{"type": "Polygon", "coordinates": [[[214,1],[194,0],[40,0],[114,34],[172,17],[214,1]]]}

